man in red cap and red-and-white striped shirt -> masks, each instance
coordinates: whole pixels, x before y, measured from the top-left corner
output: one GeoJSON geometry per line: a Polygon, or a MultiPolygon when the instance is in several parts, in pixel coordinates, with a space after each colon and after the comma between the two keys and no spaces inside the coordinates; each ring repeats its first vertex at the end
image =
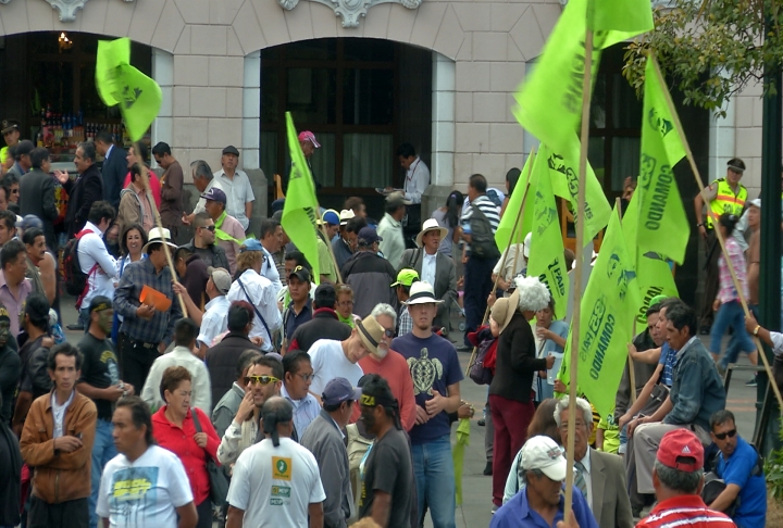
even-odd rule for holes
{"type": "Polygon", "coordinates": [[[725,514],[709,510],[699,493],[704,487],[704,448],[687,429],[661,439],[652,470],[658,504],[636,528],[736,528],[725,514]]]}

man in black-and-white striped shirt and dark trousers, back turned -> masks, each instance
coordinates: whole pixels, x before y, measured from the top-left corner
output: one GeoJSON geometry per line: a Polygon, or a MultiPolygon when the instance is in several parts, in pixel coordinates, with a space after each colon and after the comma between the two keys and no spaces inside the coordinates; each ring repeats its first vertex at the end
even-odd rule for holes
{"type": "MultiPolygon", "coordinates": [[[[493,287],[492,274],[498,257],[482,257],[471,252],[471,235],[473,211],[478,209],[489,222],[493,235],[497,231],[500,223],[500,209],[486,196],[486,178],[481,174],[474,174],[468,180],[468,199],[471,206],[462,214],[461,230],[462,239],[465,241],[465,252],[462,257],[464,263],[464,311],[465,311],[465,337],[464,347],[459,350],[472,350],[473,345],[468,340],[468,334],[473,332],[481,326],[486,311],[486,301],[493,287]]],[[[475,222],[476,219],[473,218],[475,222]]],[[[497,248],[496,248],[497,249],[497,248]]],[[[499,255],[499,251],[497,252],[499,255]]]]}

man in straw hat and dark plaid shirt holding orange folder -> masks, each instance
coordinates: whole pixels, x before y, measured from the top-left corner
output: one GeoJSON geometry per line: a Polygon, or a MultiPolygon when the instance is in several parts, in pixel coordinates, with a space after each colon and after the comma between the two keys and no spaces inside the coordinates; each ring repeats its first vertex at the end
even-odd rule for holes
{"type": "Polygon", "coordinates": [[[176,244],[171,241],[169,229],[152,228],[149,241],[141,248],[148,257],[125,266],[114,291],[114,311],[124,317],[117,339],[120,364],[124,379],[134,387],[145,386],[152,363],[172,340],[174,323],[183,316],[179,303],[172,302],[173,272],[169,268],[166,251],[174,250],[176,244]],[[142,303],[145,287],[167,298],[171,305],[161,310],[160,304],[142,303]]]}

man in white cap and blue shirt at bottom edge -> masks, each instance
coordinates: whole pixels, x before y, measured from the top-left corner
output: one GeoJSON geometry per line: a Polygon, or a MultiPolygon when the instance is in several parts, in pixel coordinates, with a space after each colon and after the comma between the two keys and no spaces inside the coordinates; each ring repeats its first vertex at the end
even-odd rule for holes
{"type": "MultiPolygon", "coordinates": [[[[522,447],[519,473],[525,487],[493,516],[489,528],[552,528],[563,521],[562,481],[568,462],[560,447],[545,436],[530,438],[522,447]]],[[[598,528],[579,488],[572,511],[580,528],[598,528]]]]}

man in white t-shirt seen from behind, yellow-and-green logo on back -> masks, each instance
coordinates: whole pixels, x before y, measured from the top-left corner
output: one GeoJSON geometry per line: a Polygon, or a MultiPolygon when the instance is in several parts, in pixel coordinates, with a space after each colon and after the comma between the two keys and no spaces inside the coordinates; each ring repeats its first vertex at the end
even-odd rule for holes
{"type": "Polygon", "coordinates": [[[323,526],[326,493],[315,457],[290,439],[293,405],[272,398],[261,418],[266,438],[246,449],[234,466],[226,528],[323,526]]]}

